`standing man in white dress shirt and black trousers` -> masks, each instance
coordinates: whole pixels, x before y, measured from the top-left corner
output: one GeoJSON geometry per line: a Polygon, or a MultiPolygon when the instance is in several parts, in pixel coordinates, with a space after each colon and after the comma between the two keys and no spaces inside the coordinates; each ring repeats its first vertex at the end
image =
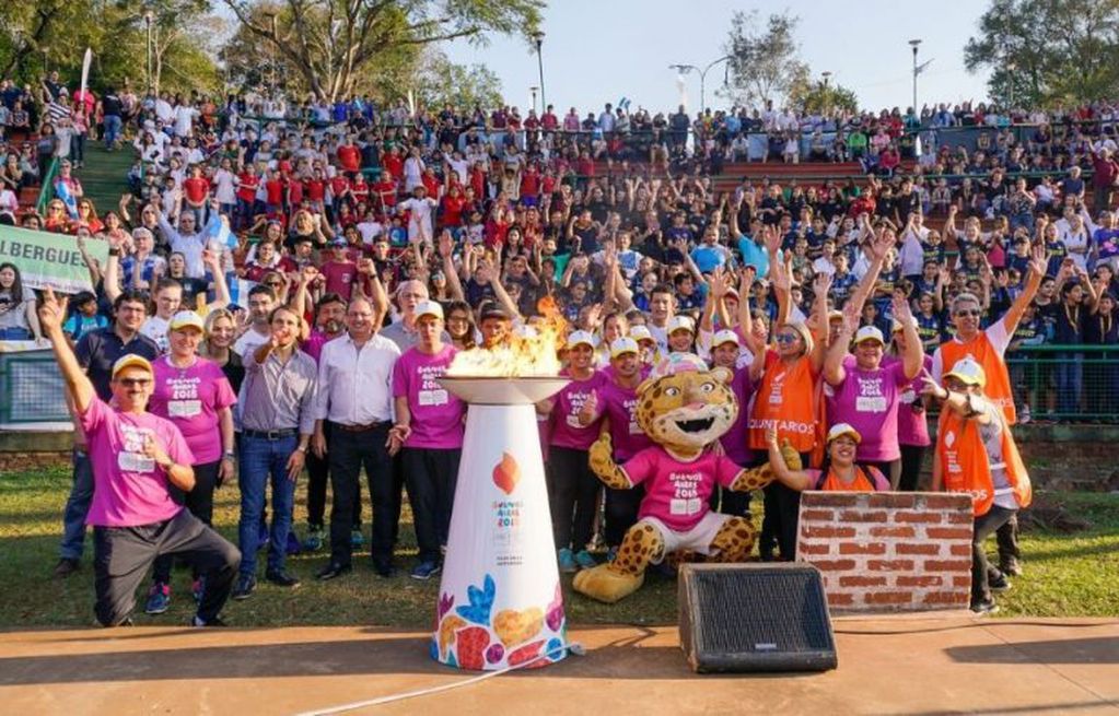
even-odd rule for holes
{"type": "MultiPolygon", "coordinates": [[[[327,454],[323,422],[330,422],[330,563],[318,573],[332,580],[350,569],[354,496],[365,467],[373,498],[373,567],[383,577],[393,568],[393,461],[388,433],[393,421],[393,367],[401,357],[396,343],[376,333],[378,311],[356,298],[346,311],[348,333],[322,347],[314,435],[311,449],[327,454]]],[[[359,493],[359,492],[358,492],[359,493]]]]}

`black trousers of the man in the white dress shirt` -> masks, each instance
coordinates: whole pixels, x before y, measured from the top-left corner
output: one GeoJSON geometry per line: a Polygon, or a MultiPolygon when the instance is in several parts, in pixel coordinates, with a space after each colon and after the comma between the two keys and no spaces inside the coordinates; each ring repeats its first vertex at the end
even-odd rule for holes
{"type": "Polygon", "coordinates": [[[348,432],[332,426],[330,452],[330,562],[349,566],[352,555],[350,528],[354,526],[356,502],[360,501],[360,475],[365,468],[373,500],[373,562],[387,567],[393,562],[393,459],[388,456],[388,424],[348,432]],[[357,499],[355,499],[355,492],[357,499]]]}

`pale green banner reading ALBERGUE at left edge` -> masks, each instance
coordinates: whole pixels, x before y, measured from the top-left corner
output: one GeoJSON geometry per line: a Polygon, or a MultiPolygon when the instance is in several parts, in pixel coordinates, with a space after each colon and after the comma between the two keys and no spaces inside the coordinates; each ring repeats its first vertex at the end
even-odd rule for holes
{"type": "MultiPolygon", "coordinates": [[[[98,265],[104,266],[109,261],[109,242],[87,238],[85,247],[98,265]]],[[[0,226],[0,264],[3,263],[15,264],[29,289],[49,286],[59,293],[93,291],[77,238],[68,234],[0,226]]]]}

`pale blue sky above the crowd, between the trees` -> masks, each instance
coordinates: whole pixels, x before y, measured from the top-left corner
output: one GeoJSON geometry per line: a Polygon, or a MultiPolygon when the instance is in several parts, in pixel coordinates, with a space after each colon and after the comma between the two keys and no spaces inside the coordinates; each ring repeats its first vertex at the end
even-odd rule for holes
{"type": "MultiPolygon", "coordinates": [[[[830,82],[855,91],[859,106],[871,110],[912,104],[913,54],[910,39],[922,39],[919,62],[932,64],[918,78],[918,102],[981,101],[988,74],[968,74],[963,46],[977,32],[986,2],[897,0],[858,2],[726,0],[551,0],[544,10],[544,90],[561,115],[571,106],[585,113],[605,102],[628,97],[630,110],[675,110],[680,95],[670,64],[699,67],[723,56],[735,10],[770,13],[788,10],[800,18],[800,57],[814,76],[830,72],[830,82]],[[930,11],[934,10],[934,11],[930,11]]],[[[539,85],[536,53],[523,38],[493,37],[477,47],[457,40],[444,50],[460,64],[483,64],[501,79],[506,102],[532,106],[529,87],[539,85]]],[[[687,106],[699,109],[699,77],[685,77],[687,106]]],[[[715,91],[723,66],[706,75],[706,104],[726,101],[715,91]]],[[[539,100],[537,100],[539,103],[539,100]]],[[[539,105],[538,105],[539,106],[539,105]]]]}

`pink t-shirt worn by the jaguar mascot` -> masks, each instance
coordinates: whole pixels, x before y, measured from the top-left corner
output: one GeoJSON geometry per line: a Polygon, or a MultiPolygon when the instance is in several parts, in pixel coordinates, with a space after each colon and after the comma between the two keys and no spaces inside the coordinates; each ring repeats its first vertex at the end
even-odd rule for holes
{"type": "Polygon", "coordinates": [[[634,487],[645,484],[639,519],[656,517],[669,529],[686,533],[709,511],[707,500],[715,486],[731,487],[742,468],[709,451],[680,462],[655,445],[633,455],[622,470],[634,487]]]}

